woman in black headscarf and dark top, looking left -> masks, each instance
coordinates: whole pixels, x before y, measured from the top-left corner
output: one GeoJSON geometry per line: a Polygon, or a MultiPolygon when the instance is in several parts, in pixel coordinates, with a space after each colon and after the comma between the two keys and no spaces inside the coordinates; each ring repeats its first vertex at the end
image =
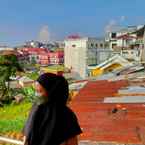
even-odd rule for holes
{"type": "Polygon", "coordinates": [[[63,76],[42,74],[37,98],[23,128],[25,145],[77,145],[82,133],[75,113],[66,106],[69,89],[63,76]]]}

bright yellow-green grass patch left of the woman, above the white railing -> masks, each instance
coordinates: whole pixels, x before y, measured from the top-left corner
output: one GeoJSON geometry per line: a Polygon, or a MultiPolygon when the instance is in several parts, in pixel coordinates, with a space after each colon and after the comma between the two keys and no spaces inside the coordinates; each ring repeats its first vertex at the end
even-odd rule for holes
{"type": "Polygon", "coordinates": [[[31,103],[10,104],[0,108],[0,134],[21,132],[27,119],[31,103]]]}

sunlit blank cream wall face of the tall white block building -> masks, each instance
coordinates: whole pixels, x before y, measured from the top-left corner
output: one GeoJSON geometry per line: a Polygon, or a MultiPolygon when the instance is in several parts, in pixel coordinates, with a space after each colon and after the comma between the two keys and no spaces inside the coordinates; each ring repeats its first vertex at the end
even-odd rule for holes
{"type": "Polygon", "coordinates": [[[82,78],[86,77],[87,41],[88,39],[69,39],[65,41],[64,48],[65,67],[72,68],[82,78]]]}

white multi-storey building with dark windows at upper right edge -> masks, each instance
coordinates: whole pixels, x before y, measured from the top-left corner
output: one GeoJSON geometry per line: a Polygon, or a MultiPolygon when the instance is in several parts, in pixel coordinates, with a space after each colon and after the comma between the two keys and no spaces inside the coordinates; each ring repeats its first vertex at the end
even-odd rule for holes
{"type": "Polygon", "coordinates": [[[140,61],[144,29],[144,25],[139,25],[108,32],[106,42],[115,53],[130,61],[140,61]]]}

